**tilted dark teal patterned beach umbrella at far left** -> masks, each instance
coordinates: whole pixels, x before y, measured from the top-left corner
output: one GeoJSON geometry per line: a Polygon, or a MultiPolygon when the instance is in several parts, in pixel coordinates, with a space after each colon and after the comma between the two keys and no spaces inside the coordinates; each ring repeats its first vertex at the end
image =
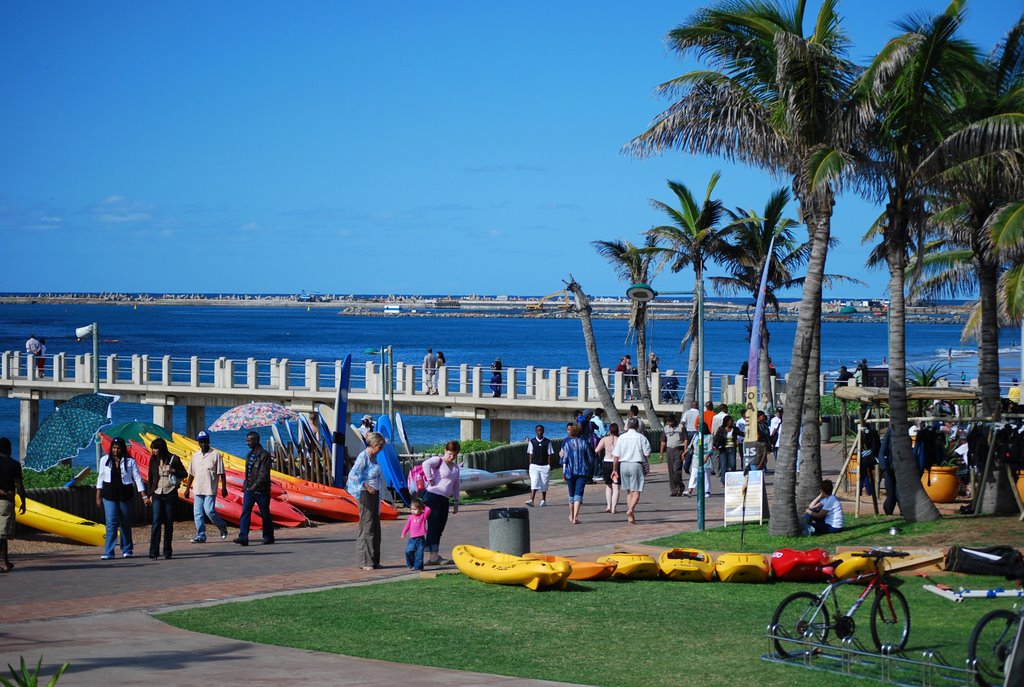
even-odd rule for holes
{"type": "Polygon", "coordinates": [[[76,456],[111,424],[111,405],[117,400],[109,393],[83,393],[58,405],[29,442],[25,467],[42,471],[76,456]]]}

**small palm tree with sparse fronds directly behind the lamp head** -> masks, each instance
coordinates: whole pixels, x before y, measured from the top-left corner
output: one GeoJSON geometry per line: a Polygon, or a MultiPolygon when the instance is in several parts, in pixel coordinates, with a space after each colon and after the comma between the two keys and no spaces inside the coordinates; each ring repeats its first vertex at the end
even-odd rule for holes
{"type": "MultiPolygon", "coordinates": [[[[615,274],[626,284],[650,284],[654,276],[651,269],[654,257],[659,253],[657,238],[648,235],[642,247],[628,241],[592,242],[598,254],[611,263],[615,274]]],[[[657,270],[654,269],[654,272],[657,270]]],[[[647,377],[647,304],[636,301],[630,304],[630,331],[637,337],[637,382],[640,386],[640,402],[651,429],[662,429],[662,421],[654,413],[647,377]]]]}

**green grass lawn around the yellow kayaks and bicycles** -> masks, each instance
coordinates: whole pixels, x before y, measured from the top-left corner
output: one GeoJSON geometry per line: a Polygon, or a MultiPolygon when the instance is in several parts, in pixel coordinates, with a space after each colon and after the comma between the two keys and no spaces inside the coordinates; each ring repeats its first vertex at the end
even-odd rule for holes
{"type": "MultiPolygon", "coordinates": [[[[872,519],[873,520],[873,519],[872,519]]],[[[978,522],[974,520],[973,522],[978,522]]],[[[1000,519],[999,523],[1009,519],[1000,519]]],[[[962,521],[963,523],[963,521],[962,521]]],[[[1001,525],[995,523],[995,528],[1001,525]]],[[[765,527],[749,527],[748,551],[823,544],[909,544],[963,533],[955,521],[901,523],[899,538],[881,534],[888,520],[855,521],[848,532],[793,542],[769,539],[765,527]],[[947,529],[948,528],[948,529],[947,529]]],[[[660,540],[665,546],[737,550],[738,527],[689,532],[660,540]]],[[[966,539],[963,543],[982,544],[966,539]]],[[[947,544],[948,545],[948,544],[947,544]]],[[[1000,578],[934,575],[953,587],[1006,586],[1000,578]]],[[[910,604],[908,651],[937,648],[962,665],[974,624],[1008,599],[953,603],[902,578],[910,604]]],[[[779,685],[820,687],[863,684],[760,659],[769,651],[765,631],[775,606],[798,590],[819,584],[726,585],[722,583],[577,583],[565,591],[531,592],[459,574],[282,596],[162,614],[161,619],[196,632],[237,639],[365,656],[403,663],[607,687],[779,685]],[[411,609],[421,609],[411,610],[411,609]]],[[[852,586],[841,597],[849,605],[852,586]]],[[[857,635],[870,644],[869,605],[860,609],[857,635]]]]}

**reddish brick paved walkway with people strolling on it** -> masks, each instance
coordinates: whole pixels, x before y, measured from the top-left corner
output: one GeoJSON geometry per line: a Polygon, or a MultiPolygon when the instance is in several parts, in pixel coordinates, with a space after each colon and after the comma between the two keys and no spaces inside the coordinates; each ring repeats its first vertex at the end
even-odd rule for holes
{"type": "MultiPolygon", "coordinates": [[[[838,471],[840,454],[825,452],[826,473],[838,471]]],[[[529,511],[531,549],[600,555],[696,527],[696,500],[669,497],[664,465],[654,466],[635,525],[626,522],[625,512],[602,512],[603,488],[588,486],[582,522],[571,525],[565,487],[553,487],[548,499],[553,505],[529,511]]],[[[722,521],[721,488],[715,481],[713,490],[706,513],[709,527],[722,521]]],[[[444,553],[456,544],[486,546],[487,512],[522,503],[523,497],[517,496],[465,507],[449,519],[441,541],[444,553]]],[[[145,557],[147,538],[136,543],[142,556],[130,560],[100,561],[99,551],[92,548],[16,557],[17,568],[0,575],[4,592],[0,665],[16,665],[22,655],[35,664],[42,656],[44,675],[49,676],[67,660],[71,668],[60,684],[103,687],[153,683],[169,687],[200,681],[252,685],[279,680],[332,685],[553,684],[444,669],[412,670],[399,663],[197,635],[150,615],[169,608],[408,578],[401,526],[401,520],[383,523],[384,568],[368,572],[356,564],[354,523],[279,530],[276,544],[263,547],[256,538],[245,549],[230,540],[189,544],[191,526],[178,523],[170,561],[145,557]],[[171,604],[169,598],[174,599],[171,604]]]]}

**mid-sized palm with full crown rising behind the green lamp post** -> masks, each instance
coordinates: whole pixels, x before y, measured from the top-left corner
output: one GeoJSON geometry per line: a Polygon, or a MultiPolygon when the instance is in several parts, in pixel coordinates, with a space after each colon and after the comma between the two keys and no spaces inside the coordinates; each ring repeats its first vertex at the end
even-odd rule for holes
{"type": "MultiPolygon", "coordinates": [[[[672,224],[655,226],[647,231],[648,237],[664,240],[668,243],[663,248],[663,264],[670,264],[673,272],[679,272],[684,267],[692,267],[694,284],[700,282],[708,261],[714,259],[724,249],[722,237],[727,227],[718,226],[725,208],[719,200],[712,200],[712,192],[718,184],[721,174],[715,172],[708,181],[703,201],[698,205],[693,194],[679,181],[669,181],[669,189],[679,201],[679,209],[651,199],[650,204],[668,215],[672,224]]],[[[690,344],[689,362],[686,372],[686,389],[683,392],[683,403],[689,404],[696,398],[697,377],[697,312],[696,299],[693,300],[693,310],[690,314],[690,325],[679,345],[682,350],[687,342],[690,344]]],[[[703,402],[703,399],[700,399],[703,402]]]]}

